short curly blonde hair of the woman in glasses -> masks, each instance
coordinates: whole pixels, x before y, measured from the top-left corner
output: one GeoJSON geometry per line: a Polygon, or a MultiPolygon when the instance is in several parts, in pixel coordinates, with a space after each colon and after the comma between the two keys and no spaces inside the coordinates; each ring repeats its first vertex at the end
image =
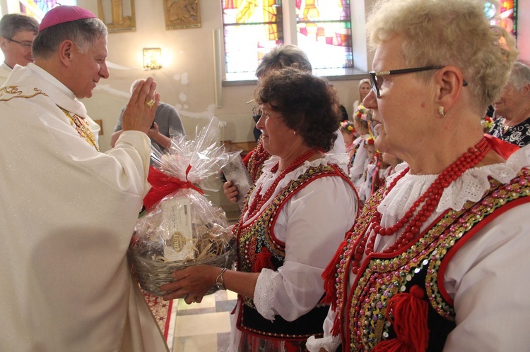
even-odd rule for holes
{"type": "MultiPolygon", "coordinates": [[[[517,57],[514,38],[490,25],[481,0],[382,0],[367,20],[367,33],[372,48],[403,36],[407,67],[460,68],[481,114],[500,97],[517,57]]],[[[416,74],[427,81],[435,73],[416,74]]]]}

